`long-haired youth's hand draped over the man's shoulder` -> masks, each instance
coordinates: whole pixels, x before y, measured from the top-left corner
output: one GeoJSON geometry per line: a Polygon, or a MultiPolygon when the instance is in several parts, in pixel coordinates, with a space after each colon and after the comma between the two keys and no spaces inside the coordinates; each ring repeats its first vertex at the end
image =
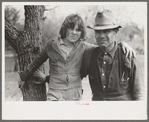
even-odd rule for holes
{"type": "Polygon", "coordinates": [[[126,57],[136,57],[136,52],[130,47],[126,42],[120,42],[123,52],[126,54],[126,57]]]}

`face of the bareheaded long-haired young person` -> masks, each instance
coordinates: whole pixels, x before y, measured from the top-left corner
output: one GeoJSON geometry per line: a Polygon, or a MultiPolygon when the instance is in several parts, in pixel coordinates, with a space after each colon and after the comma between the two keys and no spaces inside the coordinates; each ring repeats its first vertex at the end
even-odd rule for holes
{"type": "Polygon", "coordinates": [[[73,29],[67,29],[66,33],[66,39],[71,42],[75,43],[77,42],[81,37],[81,30],[78,28],[78,24],[75,25],[73,29]]]}

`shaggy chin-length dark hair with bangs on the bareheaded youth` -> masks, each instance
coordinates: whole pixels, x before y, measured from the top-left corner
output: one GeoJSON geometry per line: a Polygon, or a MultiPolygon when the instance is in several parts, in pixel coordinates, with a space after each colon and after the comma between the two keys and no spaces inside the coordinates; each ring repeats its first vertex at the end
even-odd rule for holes
{"type": "Polygon", "coordinates": [[[70,28],[74,29],[76,24],[78,24],[78,29],[81,30],[80,39],[84,39],[86,36],[85,26],[82,18],[77,14],[70,14],[69,16],[66,17],[59,32],[59,34],[61,35],[61,38],[62,39],[66,38],[67,29],[70,29],[70,28]]]}

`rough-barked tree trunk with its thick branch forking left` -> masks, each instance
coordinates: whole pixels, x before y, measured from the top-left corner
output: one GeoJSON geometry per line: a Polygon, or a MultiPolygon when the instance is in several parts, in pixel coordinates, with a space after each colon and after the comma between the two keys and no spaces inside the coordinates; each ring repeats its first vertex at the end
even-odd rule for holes
{"type": "MultiPolygon", "coordinates": [[[[44,28],[44,6],[24,6],[25,26],[24,31],[18,31],[5,19],[5,38],[18,54],[20,71],[38,56],[42,50],[42,36],[44,28]]],[[[44,67],[39,68],[44,72],[44,67]]],[[[21,88],[24,101],[45,101],[45,84],[34,84],[33,78],[25,82],[21,88]]]]}

